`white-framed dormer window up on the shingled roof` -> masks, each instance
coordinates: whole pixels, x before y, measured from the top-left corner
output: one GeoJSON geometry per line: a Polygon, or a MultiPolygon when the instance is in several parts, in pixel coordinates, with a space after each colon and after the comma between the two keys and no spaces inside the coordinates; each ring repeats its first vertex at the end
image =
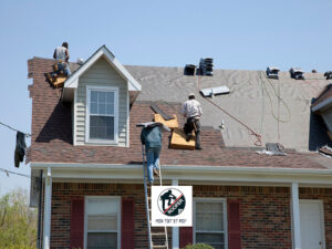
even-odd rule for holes
{"type": "Polygon", "coordinates": [[[116,87],[87,86],[87,143],[117,143],[117,92],[116,87]]]}

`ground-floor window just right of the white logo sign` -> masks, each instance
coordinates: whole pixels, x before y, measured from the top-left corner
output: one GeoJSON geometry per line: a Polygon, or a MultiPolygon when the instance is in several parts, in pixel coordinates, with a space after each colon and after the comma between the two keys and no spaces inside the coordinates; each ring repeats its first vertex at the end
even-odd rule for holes
{"type": "Polygon", "coordinates": [[[194,199],[194,238],[215,249],[227,248],[226,200],[194,199]]]}

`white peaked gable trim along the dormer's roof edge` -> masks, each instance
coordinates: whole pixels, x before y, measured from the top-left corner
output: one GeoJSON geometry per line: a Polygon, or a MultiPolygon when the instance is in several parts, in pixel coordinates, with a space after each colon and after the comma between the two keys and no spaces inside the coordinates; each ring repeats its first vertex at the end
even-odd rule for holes
{"type": "Polygon", "coordinates": [[[68,89],[77,89],[79,77],[84,74],[100,58],[105,60],[114,68],[120,75],[128,82],[128,91],[142,91],[142,85],[131,75],[131,73],[117,61],[114,54],[105,46],[101,46],[94,54],[81,65],[64,83],[62,98],[70,100],[66,94],[68,89]]]}

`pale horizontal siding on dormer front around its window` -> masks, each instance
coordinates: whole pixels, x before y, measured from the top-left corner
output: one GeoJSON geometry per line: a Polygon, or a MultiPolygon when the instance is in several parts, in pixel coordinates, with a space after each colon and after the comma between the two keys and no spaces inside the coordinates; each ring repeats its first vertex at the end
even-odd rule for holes
{"type": "Polygon", "coordinates": [[[127,82],[101,58],[79,80],[76,95],[76,145],[85,144],[86,85],[118,87],[118,146],[127,146],[127,82]]]}

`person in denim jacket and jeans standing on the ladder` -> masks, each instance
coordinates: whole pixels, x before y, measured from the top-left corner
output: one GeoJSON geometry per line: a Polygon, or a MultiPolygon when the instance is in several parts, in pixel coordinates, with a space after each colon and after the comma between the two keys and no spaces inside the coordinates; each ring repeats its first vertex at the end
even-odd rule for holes
{"type": "Polygon", "coordinates": [[[162,131],[159,126],[147,126],[142,129],[141,142],[145,145],[147,178],[152,185],[154,176],[159,175],[159,154],[162,151],[162,131]]]}

